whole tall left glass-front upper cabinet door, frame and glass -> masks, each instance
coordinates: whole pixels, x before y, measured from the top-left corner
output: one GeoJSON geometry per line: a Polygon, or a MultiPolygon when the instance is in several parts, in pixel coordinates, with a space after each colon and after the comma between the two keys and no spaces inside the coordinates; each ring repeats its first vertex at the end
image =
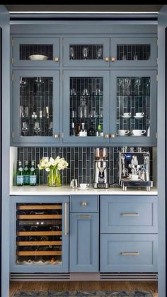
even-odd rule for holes
{"type": "Polygon", "coordinates": [[[59,142],[59,72],[13,75],[14,142],[59,142]]]}

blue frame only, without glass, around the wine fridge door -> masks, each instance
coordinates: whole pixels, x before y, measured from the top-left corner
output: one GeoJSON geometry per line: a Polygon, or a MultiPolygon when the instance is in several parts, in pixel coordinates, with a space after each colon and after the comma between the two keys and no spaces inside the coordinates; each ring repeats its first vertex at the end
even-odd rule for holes
{"type": "Polygon", "coordinates": [[[11,196],[11,272],[68,272],[69,271],[69,196],[11,196]],[[17,265],[16,264],[16,203],[62,203],[62,265],[17,265]],[[67,235],[64,235],[64,203],[67,203],[67,235]]]}

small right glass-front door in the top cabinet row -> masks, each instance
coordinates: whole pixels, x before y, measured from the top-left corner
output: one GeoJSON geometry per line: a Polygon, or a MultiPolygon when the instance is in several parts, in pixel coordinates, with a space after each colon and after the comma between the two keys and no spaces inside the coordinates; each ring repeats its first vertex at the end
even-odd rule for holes
{"type": "Polygon", "coordinates": [[[157,67],[156,38],[111,38],[111,67],[157,67]]]}

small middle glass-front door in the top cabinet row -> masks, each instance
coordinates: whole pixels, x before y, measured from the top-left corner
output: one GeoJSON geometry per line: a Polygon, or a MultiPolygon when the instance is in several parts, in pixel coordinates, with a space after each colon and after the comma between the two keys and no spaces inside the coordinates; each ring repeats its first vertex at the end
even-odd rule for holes
{"type": "Polygon", "coordinates": [[[64,38],[64,66],[110,66],[110,38],[64,38]]]}

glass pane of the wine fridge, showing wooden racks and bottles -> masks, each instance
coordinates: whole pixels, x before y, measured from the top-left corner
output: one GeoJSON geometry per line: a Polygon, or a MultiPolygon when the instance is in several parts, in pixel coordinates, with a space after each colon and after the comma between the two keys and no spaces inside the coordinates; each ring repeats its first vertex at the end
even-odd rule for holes
{"type": "Polygon", "coordinates": [[[17,203],[16,264],[62,265],[62,203],[17,203]]]}

